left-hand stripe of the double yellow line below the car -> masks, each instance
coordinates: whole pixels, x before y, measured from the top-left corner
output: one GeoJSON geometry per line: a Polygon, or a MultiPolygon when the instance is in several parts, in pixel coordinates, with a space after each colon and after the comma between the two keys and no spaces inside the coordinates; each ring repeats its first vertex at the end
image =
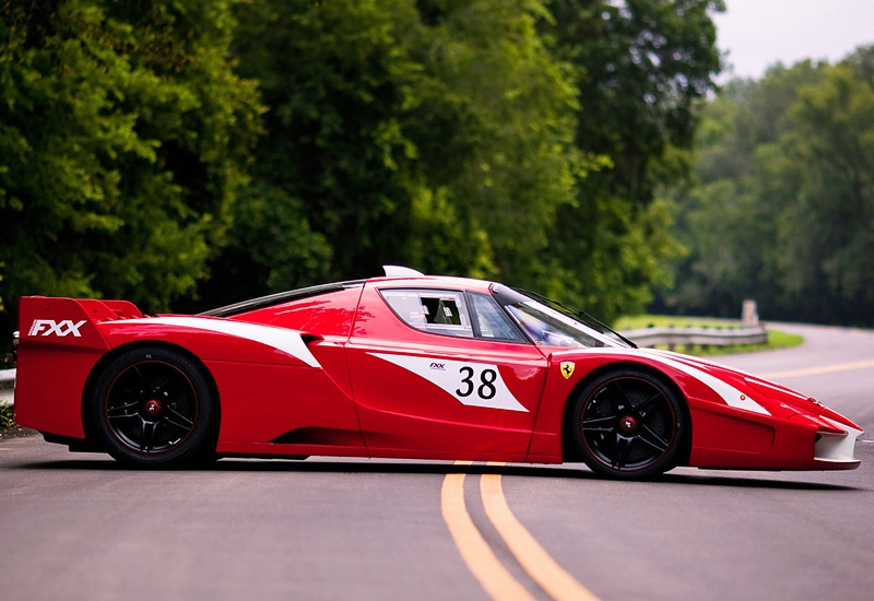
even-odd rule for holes
{"type": "MultiPolygon", "coordinates": [[[[456,463],[470,466],[470,461],[456,463]]],[[[440,508],[461,557],[492,599],[534,601],[498,561],[468,514],[464,505],[464,474],[446,474],[440,490],[440,508]]]]}

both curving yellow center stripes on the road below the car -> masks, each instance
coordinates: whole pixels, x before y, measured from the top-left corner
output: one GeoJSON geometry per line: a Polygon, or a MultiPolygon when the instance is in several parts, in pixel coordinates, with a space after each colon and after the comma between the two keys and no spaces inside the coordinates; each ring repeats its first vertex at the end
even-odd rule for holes
{"type": "MultiPolygon", "coordinates": [[[[457,466],[470,466],[470,461],[457,461],[457,466]]],[[[503,463],[489,463],[503,466],[503,463]]],[[[574,579],[541,544],[531,535],[510,511],[500,484],[500,474],[480,476],[480,495],[488,520],[494,525],[519,565],[557,601],[598,601],[586,587],[574,579]]],[[[473,522],[464,503],[464,474],[451,473],[444,479],[440,492],[444,520],[452,540],[473,576],[492,599],[533,600],[534,597],[500,563],[494,551],[473,522]]]]}

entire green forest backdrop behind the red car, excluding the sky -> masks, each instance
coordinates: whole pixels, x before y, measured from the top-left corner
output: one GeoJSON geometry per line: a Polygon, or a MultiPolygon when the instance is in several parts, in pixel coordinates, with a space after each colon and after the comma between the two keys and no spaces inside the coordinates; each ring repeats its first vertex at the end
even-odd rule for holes
{"type": "Polygon", "coordinates": [[[0,0],[0,337],[383,263],[871,323],[874,58],[718,91],[721,0],[0,0]]]}

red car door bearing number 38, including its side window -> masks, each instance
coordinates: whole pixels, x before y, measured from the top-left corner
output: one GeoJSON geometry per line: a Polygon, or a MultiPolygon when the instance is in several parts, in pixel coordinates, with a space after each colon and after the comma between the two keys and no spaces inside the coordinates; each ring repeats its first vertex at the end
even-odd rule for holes
{"type": "Polygon", "coordinates": [[[524,460],[547,361],[491,295],[368,284],[346,352],[371,457],[524,460]]]}

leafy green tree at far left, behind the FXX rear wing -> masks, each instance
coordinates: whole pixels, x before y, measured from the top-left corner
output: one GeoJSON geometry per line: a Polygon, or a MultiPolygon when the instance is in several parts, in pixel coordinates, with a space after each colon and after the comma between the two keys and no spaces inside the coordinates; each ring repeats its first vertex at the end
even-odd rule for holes
{"type": "Polygon", "coordinates": [[[0,2],[8,303],[119,296],[154,311],[194,291],[259,132],[255,83],[228,56],[233,3],[0,2]]]}

